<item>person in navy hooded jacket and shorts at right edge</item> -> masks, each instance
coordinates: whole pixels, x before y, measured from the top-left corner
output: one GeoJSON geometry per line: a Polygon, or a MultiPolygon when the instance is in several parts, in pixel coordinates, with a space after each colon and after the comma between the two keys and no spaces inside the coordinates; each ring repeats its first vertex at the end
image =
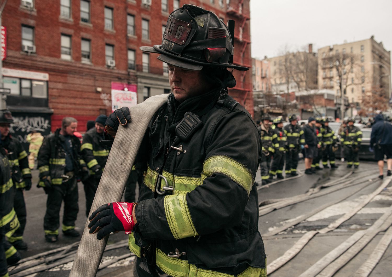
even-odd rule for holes
{"type": "Polygon", "coordinates": [[[377,114],[374,118],[372,134],[370,134],[370,151],[375,149],[375,157],[380,170],[379,178],[383,179],[384,156],[387,158],[387,175],[392,170],[392,125],[384,120],[383,114],[377,114]]]}

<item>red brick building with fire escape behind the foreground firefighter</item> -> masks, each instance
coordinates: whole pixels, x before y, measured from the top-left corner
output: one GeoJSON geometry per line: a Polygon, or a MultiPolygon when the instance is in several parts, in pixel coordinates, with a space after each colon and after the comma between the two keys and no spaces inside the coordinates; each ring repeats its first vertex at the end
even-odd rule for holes
{"type": "MultiPolygon", "coordinates": [[[[20,122],[11,132],[21,141],[33,129],[47,134],[64,116],[84,132],[87,120],[111,112],[112,89],[136,88],[138,103],[171,92],[165,64],[139,47],[160,44],[169,12],[185,3],[235,20],[234,63],[250,67],[249,0],[8,1],[2,74],[20,122]]],[[[251,73],[233,74],[229,93],[253,114],[251,73]]]]}

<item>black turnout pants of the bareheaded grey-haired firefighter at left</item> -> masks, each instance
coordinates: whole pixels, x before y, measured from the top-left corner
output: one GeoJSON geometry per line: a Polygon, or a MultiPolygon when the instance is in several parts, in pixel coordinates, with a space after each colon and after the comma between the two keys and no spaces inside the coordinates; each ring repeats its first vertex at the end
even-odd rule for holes
{"type": "Polygon", "coordinates": [[[48,194],[46,201],[46,214],[44,218],[45,235],[58,235],[60,226],[60,207],[64,201],[64,216],[62,230],[67,231],[75,228],[76,217],[79,212],[78,184],[72,177],[61,185],[52,185],[46,189],[48,194]]]}

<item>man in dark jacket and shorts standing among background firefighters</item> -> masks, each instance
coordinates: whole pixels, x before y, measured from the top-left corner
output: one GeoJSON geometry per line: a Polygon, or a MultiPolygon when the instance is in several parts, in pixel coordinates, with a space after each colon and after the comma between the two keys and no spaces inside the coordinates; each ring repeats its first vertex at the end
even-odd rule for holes
{"type": "Polygon", "coordinates": [[[303,127],[303,135],[305,138],[305,174],[312,174],[312,161],[318,156],[318,148],[320,148],[319,139],[316,134],[316,119],[310,117],[308,124],[303,127]]]}

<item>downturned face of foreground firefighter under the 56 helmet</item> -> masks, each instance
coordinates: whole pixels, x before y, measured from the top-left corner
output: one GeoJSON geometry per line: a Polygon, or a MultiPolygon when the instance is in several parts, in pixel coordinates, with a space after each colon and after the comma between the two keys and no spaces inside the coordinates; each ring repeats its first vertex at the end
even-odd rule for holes
{"type": "Polygon", "coordinates": [[[203,78],[201,70],[183,69],[170,64],[168,66],[169,84],[178,102],[182,103],[212,89],[212,85],[203,78]]]}

